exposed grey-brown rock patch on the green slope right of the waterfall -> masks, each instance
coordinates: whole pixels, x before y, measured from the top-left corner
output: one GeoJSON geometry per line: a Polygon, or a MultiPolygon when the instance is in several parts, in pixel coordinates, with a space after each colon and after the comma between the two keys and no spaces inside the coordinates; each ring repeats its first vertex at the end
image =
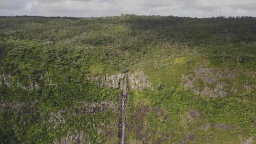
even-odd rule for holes
{"type": "MultiPolygon", "coordinates": [[[[238,76],[233,71],[220,71],[211,68],[195,68],[195,75],[182,75],[183,86],[190,89],[196,95],[212,98],[224,97],[227,95],[230,85],[225,80],[235,80],[238,76]]],[[[252,89],[251,85],[245,85],[245,90],[252,89]]],[[[236,91],[236,88],[232,88],[236,91]]]]}

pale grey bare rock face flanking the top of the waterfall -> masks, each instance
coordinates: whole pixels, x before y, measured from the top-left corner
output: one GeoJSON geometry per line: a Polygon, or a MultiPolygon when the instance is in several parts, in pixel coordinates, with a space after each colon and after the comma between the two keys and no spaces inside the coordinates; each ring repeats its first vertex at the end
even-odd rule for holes
{"type": "Polygon", "coordinates": [[[100,86],[107,86],[115,89],[124,89],[125,76],[128,75],[128,90],[142,90],[144,88],[152,88],[151,83],[147,81],[147,76],[143,71],[134,73],[118,73],[110,76],[100,76],[100,77],[89,77],[90,81],[98,81],[100,86]]]}

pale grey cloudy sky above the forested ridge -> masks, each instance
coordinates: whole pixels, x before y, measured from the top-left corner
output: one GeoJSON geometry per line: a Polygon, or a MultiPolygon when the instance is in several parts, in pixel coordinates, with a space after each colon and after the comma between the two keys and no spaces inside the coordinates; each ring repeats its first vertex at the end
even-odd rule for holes
{"type": "Polygon", "coordinates": [[[253,16],[256,0],[0,0],[0,16],[253,16]]]}

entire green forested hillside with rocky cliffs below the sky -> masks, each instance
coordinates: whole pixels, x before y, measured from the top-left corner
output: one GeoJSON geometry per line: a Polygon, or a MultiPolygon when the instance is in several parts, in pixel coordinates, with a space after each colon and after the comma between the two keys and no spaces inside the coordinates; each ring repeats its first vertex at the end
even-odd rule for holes
{"type": "Polygon", "coordinates": [[[256,18],[0,17],[0,144],[120,143],[256,144],[256,18]]]}

